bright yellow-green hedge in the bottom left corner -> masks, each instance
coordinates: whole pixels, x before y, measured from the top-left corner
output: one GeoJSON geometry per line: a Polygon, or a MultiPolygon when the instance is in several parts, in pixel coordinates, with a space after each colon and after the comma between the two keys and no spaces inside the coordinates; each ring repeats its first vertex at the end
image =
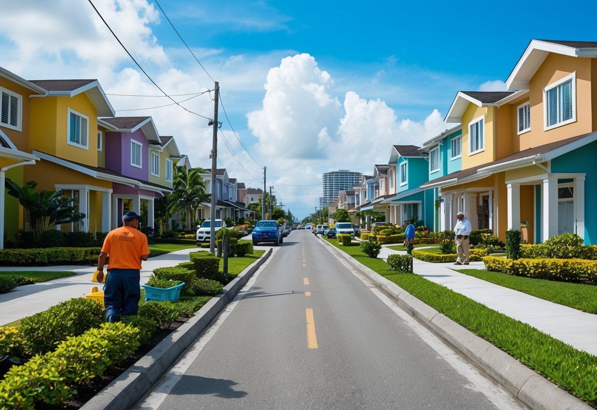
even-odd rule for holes
{"type": "Polygon", "coordinates": [[[103,375],[139,345],[139,329],[124,323],[103,323],[100,328],[69,338],[53,352],[34,356],[7,372],[0,382],[0,408],[66,405],[78,385],[103,375]]]}

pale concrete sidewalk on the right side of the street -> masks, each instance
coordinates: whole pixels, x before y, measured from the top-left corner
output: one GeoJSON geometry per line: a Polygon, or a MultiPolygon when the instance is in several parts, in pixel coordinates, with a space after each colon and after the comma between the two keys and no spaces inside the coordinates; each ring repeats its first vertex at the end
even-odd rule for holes
{"type": "MultiPolygon", "coordinates": [[[[387,256],[392,253],[404,255],[406,251],[382,246],[379,258],[387,260],[387,256]]],[[[454,266],[452,263],[434,264],[418,259],[413,262],[414,273],[425,279],[461,293],[512,319],[528,323],[578,350],[597,356],[596,314],[584,313],[453,270],[464,268],[484,269],[485,266],[483,262],[470,262],[467,267],[454,266]]]]}

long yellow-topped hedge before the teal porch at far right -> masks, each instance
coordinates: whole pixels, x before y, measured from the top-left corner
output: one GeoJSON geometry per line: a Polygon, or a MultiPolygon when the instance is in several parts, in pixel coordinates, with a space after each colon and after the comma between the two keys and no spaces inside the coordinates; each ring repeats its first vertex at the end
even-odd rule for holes
{"type": "Polygon", "coordinates": [[[506,259],[497,256],[483,258],[485,268],[515,276],[538,279],[578,282],[589,280],[597,283],[597,261],[586,259],[506,259]]]}

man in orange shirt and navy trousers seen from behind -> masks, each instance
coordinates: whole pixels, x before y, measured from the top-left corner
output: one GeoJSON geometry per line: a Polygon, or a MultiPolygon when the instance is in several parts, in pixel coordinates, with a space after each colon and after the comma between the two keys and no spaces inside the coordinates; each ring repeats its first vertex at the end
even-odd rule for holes
{"type": "Polygon", "coordinates": [[[97,259],[97,280],[104,278],[104,264],[109,255],[104,307],[106,322],[119,322],[122,316],[137,314],[139,308],[141,261],[149,258],[147,237],[139,231],[141,217],[134,212],[122,216],[124,226],[110,231],[97,259]]]}

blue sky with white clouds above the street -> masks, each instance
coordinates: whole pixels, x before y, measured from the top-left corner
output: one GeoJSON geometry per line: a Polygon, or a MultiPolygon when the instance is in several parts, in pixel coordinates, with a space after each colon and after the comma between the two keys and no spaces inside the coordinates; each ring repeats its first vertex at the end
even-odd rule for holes
{"type": "MultiPolygon", "coordinates": [[[[93,2],[167,93],[213,88],[155,2],[93,2]]],[[[435,136],[457,91],[502,89],[531,39],[597,40],[597,3],[587,1],[160,5],[220,82],[230,124],[220,110],[219,167],[257,188],[267,166],[267,186],[300,218],[319,203],[322,173],[371,173],[392,144],[435,136]]],[[[27,79],[97,78],[118,115],[152,115],[193,166],[210,166],[207,121],[176,106],[141,109],[168,101],[88,2],[0,0],[0,8],[0,66],[27,79]]],[[[213,116],[207,94],[183,105],[213,116]]]]}

